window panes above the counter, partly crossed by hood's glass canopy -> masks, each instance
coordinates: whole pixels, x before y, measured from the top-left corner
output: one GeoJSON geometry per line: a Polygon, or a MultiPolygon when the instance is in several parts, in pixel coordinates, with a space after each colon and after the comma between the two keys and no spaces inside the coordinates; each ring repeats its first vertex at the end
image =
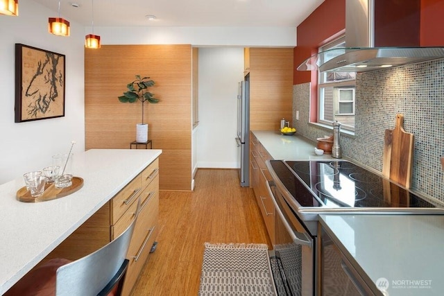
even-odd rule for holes
{"type": "MultiPolygon", "coordinates": [[[[319,47],[325,60],[341,53],[332,49],[345,47],[345,36],[319,47]]],[[[321,61],[322,62],[322,61],[321,61]]],[[[355,72],[318,73],[318,122],[331,125],[339,121],[348,130],[355,130],[355,72]]]]}

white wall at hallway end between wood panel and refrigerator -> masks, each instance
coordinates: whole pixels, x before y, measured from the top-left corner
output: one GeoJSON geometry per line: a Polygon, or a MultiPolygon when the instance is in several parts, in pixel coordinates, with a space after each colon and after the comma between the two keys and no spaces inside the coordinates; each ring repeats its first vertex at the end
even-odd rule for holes
{"type": "Polygon", "coordinates": [[[199,168],[239,168],[237,90],[244,79],[243,48],[199,49],[199,168]]]}

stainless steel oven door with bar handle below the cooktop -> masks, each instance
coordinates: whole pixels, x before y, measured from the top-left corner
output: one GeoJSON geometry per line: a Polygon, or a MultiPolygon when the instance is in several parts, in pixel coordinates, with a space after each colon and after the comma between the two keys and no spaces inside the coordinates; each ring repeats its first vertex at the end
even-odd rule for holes
{"type": "Polygon", "coordinates": [[[275,241],[270,252],[278,295],[314,295],[316,237],[296,218],[274,182],[268,192],[275,204],[275,241]]]}

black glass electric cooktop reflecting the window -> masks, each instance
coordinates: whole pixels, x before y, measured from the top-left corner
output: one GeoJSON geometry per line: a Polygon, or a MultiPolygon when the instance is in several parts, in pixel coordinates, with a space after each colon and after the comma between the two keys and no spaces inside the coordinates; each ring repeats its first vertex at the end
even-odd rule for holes
{"type": "Polygon", "coordinates": [[[436,207],[352,162],[271,160],[270,164],[302,207],[436,207]]]}

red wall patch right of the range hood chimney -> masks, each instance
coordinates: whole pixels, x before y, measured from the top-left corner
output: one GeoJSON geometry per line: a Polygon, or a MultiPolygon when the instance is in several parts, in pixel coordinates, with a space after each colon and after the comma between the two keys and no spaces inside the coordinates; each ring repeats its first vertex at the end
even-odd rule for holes
{"type": "Polygon", "coordinates": [[[421,0],[421,46],[444,46],[444,0],[421,0]]]}

